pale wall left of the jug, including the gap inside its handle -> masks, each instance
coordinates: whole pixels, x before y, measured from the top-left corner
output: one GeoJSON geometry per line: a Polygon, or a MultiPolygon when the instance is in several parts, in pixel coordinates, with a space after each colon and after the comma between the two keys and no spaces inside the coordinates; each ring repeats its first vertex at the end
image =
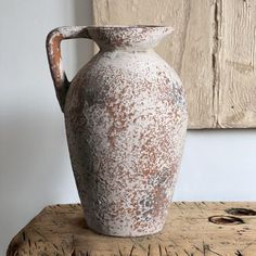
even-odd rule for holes
{"type": "MultiPolygon", "coordinates": [[[[56,26],[91,23],[89,0],[0,0],[0,255],[43,206],[78,201],[44,41],[56,26]]],[[[72,77],[92,44],[63,44],[72,77]]]]}

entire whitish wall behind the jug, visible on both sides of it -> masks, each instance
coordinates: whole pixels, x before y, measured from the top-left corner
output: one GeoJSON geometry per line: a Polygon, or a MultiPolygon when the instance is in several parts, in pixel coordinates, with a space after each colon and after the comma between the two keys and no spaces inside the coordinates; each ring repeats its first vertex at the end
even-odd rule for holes
{"type": "MultiPolygon", "coordinates": [[[[92,23],[89,0],[0,0],[0,255],[42,207],[77,202],[44,39],[92,23]]],[[[89,41],[63,43],[72,77],[89,41]]],[[[256,131],[190,131],[175,200],[256,200],[256,131]]]]}

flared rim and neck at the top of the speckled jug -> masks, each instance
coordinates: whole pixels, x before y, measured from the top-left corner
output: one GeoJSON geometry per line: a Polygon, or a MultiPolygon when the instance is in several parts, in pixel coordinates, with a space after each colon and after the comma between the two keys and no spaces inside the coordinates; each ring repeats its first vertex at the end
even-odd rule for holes
{"type": "Polygon", "coordinates": [[[168,26],[90,26],[89,36],[101,50],[154,48],[172,31],[168,26]]]}

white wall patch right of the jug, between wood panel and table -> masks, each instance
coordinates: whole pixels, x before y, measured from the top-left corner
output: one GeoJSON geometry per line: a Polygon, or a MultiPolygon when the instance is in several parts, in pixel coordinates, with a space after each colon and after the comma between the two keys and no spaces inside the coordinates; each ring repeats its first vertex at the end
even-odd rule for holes
{"type": "Polygon", "coordinates": [[[176,201],[256,201],[256,130],[189,131],[176,201]]]}

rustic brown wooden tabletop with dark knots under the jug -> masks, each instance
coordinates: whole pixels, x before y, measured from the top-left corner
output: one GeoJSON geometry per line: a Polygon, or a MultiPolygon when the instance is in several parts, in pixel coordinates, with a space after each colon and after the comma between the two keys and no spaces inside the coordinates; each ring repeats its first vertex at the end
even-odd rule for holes
{"type": "Polygon", "coordinates": [[[256,203],[172,203],[164,230],[112,238],[89,230],[80,205],[46,207],[12,240],[8,256],[256,255],[256,203]]]}

